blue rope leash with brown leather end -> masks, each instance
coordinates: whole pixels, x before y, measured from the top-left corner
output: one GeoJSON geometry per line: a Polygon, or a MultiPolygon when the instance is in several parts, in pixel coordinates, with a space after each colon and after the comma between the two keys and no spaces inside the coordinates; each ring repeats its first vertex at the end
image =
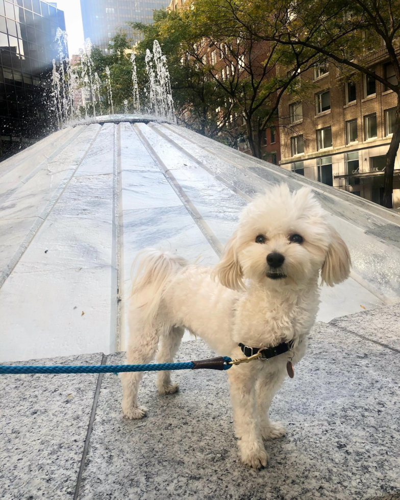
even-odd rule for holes
{"type": "Polygon", "coordinates": [[[27,373],[119,373],[122,371],[192,370],[195,368],[228,370],[232,366],[228,364],[231,361],[232,359],[228,356],[223,356],[220,358],[214,358],[214,360],[188,361],[186,363],[151,363],[145,365],[0,365],[0,374],[16,375],[27,373]]]}

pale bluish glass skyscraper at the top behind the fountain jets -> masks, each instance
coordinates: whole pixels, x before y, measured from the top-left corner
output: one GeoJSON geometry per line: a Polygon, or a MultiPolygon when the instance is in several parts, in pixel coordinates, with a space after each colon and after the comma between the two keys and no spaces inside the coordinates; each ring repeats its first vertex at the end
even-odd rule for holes
{"type": "Polygon", "coordinates": [[[128,21],[153,22],[153,10],[166,8],[170,0],[81,0],[83,32],[85,39],[103,53],[107,54],[112,47],[110,40],[117,30],[122,28],[132,38],[133,43],[139,40],[128,21]]]}

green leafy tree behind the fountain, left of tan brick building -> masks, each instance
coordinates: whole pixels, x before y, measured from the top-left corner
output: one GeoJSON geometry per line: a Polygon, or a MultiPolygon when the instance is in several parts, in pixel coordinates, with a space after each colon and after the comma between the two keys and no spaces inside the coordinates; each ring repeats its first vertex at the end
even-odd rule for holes
{"type": "Polygon", "coordinates": [[[260,42],[241,23],[226,25],[222,19],[218,24],[218,16],[213,1],[197,0],[194,9],[156,12],[151,26],[132,23],[144,35],[139,54],[143,59],[146,48],[155,39],[160,42],[184,123],[210,137],[230,136],[233,142],[245,128],[252,154],[261,158],[262,137],[277,119],[281,96],[298,72],[309,67],[315,51],[293,47],[288,55],[277,43],[260,42]],[[279,64],[292,71],[278,74],[279,64]]]}

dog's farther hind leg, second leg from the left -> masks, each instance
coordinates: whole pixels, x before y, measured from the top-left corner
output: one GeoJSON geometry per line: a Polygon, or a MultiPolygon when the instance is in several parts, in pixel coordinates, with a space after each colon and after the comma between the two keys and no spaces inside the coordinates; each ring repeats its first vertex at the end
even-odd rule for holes
{"type": "MultiPolygon", "coordinates": [[[[172,327],[169,332],[161,336],[160,346],[157,353],[157,363],[173,363],[173,358],[177,354],[184,329],[172,327]]],[[[178,390],[179,383],[171,381],[170,371],[159,371],[156,382],[160,394],[173,394],[178,390]]]]}

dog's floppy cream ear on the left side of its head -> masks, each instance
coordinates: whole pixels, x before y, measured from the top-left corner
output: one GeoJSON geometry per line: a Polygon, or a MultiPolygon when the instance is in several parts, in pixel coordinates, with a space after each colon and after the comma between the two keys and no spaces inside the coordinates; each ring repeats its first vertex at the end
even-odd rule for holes
{"type": "Polygon", "coordinates": [[[237,233],[233,233],[228,241],[221,260],[215,266],[213,279],[217,278],[219,283],[232,290],[241,290],[244,288],[242,269],[237,258],[237,233]]]}

